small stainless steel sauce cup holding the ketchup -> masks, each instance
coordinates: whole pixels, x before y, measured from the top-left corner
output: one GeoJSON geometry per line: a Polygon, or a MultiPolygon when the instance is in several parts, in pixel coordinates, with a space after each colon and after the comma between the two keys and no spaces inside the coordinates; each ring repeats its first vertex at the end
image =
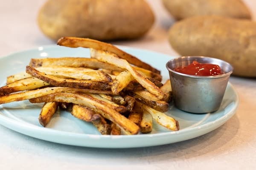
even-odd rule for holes
{"type": "Polygon", "coordinates": [[[217,111],[221,105],[227,82],[233,72],[232,66],[211,57],[178,57],[166,63],[172,84],[174,103],[180,110],[191,113],[209,113],[217,111]],[[221,67],[224,74],[218,76],[192,76],[174,71],[185,67],[193,61],[211,63],[221,67]]]}

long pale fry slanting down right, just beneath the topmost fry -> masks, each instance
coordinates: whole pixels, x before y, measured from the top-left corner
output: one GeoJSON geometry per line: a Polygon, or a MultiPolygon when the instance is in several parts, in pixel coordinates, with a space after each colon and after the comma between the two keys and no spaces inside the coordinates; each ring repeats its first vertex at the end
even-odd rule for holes
{"type": "Polygon", "coordinates": [[[99,59],[103,62],[108,62],[111,64],[114,64],[120,68],[127,69],[131,75],[134,77],[134,79],[137,80],[144,88],[146,88],[150,93],[157,96],[160,100],[166,100],[167,94],[160,90],[154,83],[143,77],[141,74],[139,74],[132,66],[125,60],[118,58],[115,54],[108,53],[105,51],[98,51],[95,49],[91,49],[91,57],[99,59]]]}

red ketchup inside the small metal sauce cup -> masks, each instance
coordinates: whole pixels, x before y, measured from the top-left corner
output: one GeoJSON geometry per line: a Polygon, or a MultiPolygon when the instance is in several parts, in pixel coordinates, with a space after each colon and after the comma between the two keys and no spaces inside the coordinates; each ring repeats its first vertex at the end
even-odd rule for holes
{"type": "Polygon", "coordinates": [[[197,61],[193,61],[186,67],[175,68],[174,71],[194,76],[216,76],[222,74],[220,66],[209,63],[202,64],[197,61]]]}

